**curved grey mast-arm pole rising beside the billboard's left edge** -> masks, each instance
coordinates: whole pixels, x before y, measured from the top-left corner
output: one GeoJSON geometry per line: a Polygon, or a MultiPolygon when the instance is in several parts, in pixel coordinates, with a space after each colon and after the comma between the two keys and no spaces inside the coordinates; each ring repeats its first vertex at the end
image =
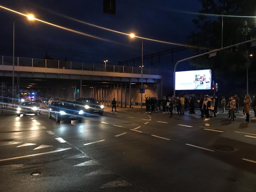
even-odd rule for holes
{"type": "Polygon", "coordinates": [[[176,72],[176,68],[177,68],[177,66],[180,62],[187,61],[187,60],[190,60],[190,59],[194,59],[194,58],[197,58],[197,57],[201,57],[201,56],[211,54],[211,53],[214,53],[214,52],[222,51],[224,49],[229,49],[231,47],[235,47],[237,45],[246,44],[246,43],[253,42],[253,41],[256,41],[256,39],[247,40],[247,41],[240,42],[240,43],[237,43],[237,44],[234,44],[234,45],[229,45],[227,47],[222,47],[220,49],[214,49],[214,50],[209,51],[209,52],[205,52],[205,53],[195,55],[195,56],[192,56],[192,57],[187,57],[185,59],[181,59],[181,60],[177,61],[177,63],[174,66],[174,70],[173,70],[173,96],[175,97],[175,72],[176,72]]]}

